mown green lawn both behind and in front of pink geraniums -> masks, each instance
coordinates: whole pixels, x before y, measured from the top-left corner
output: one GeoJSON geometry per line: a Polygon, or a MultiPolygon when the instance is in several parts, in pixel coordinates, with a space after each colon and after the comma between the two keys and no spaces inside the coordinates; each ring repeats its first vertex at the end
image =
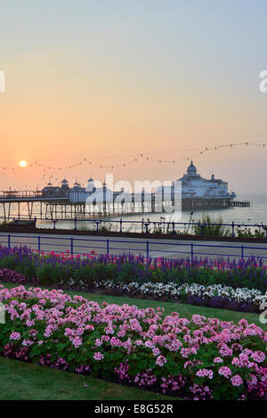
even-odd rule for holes
{"type": "MultiPolygon", "coordinates": [[[[15,287],[14,283],[2,283],[5,287],[15,287]]],[[[30,287],[30,286],[25,286],[30,287]]],[[[86,299],[98,303],[104,301],[137,307],[164,307],[165,314],[173,311],[180,316],[188,317],[198,314],[218,317],[224,321],[239,322],[246,318],[249,323],[261,326],[267,331],[267,324],[260,324],[259,316],[210,307],[193,307],[181,303],[160,302],[158,300],[132,299],[120,296],[107,296],[97,293],[66,291],[70,295],[80,294],[86,299]]],[[[61,372],[39,365],[28,365],[17,360],[0,357],[0,399],[91,399],[91,400],[160,400],[171,399],[149,391],[129,388],[76,373],[61,372]],[[87,387],[85,387],[87,385],[87,387]]]]}

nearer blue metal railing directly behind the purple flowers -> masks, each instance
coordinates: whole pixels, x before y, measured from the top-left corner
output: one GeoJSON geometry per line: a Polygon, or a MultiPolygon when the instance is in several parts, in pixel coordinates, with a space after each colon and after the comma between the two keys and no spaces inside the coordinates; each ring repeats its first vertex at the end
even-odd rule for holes
{"type": "Polygon", "coordinates": [[[110,238],[80,238],[74,236],[62,237],[36,234],[0,234],[0,243],[4,244],[4,246],[9,249],[14,246],[28,246],[33,248],[33,250],[43,251],[44,253],[55,250],[55,252],[69,252],[73,255],[88,254],[88,251],[90,252],[90,249],[92,249],[97,251],[100,250],[101,254],[110,255],[121,255],[125,252],[138,252],[138,254],[144,255],[146,258],[159,257],[153,253],[160,253],[160,257],[170,259],[177,258],[179,255],[187,255],[187,257],[190,257],[191,259],[197,256],[242,259],[250,257],[267,258],[267,246],[259,247],[243,244],[217,245],[198,242],[157,242],[145,239],[132,241],[129,239],[116,240],[110,238]],[[20,240],[21,238],[23,241],[20,240]],[[47,247],[49,247],[49,249],[47,249],[47,247]],[[247,250],[251,250],[251,252],[247,254],[247,250]],[[263,255],[256,254],[255,250],[258,252],[263,251],[263,255]]]}

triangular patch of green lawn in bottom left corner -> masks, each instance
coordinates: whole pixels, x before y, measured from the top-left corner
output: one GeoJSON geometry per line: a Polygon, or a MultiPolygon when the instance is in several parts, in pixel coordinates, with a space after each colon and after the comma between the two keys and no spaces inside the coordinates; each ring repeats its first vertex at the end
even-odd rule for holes
{"type": "Polygon", "coordinates": [[[76,373],[0,357],[0,400],[173,399],[76,373]]]}

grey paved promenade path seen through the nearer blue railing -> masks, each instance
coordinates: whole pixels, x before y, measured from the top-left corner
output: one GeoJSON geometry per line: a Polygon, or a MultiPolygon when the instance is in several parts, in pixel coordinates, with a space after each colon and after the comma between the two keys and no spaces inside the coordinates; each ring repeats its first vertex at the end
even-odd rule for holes
{"type": "MultiPolygon", "coordinates": [[[[182,240],[157,240],[157,238],[125,238],[109,236],[82,236],[82,235],[54,235],[54,234],[11,234],[10,246],[27,245],[34,250],[66,252],[72,250],[74,254],[89,253],[95,250],[98,254],[118,255],[131,252],[142,254],[153,258],[182,258],[191,257],[193,247],[194,257],[247,258],[250,256],[266,257],[267,264],[267,243],[247,242],[211,242],[211,241],[182,241],[182,240]],[[71,240],[72,238],[72,240],[71,240]],[[193,246],[191,246],[191,243],[193,246]],[[242,249],[243,246],[243,249],[242,249]]],[[[0,234],[0,243],[8,245],[8,233],[0,234]]]]}

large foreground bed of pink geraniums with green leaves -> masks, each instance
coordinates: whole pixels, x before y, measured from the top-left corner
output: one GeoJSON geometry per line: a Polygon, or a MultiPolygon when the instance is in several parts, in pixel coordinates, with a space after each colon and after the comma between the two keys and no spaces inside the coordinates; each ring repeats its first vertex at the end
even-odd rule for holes
{"type": "Polygon", "coordinates": [[[267,333],[162,309],[101,306],[81,296],[0,286],[0,353],[193,399],[266,398],[267,333]]]}

